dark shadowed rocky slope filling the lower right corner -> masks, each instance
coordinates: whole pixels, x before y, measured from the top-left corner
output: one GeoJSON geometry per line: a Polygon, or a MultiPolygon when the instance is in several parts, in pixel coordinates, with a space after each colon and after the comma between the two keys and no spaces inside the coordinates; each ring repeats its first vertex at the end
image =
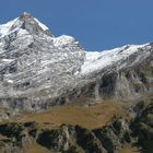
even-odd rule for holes
{"type": "Polygon", "coordinates": [[[142,152],[153,152],[153,101],[144,104],[137,115],[131,129],[133,134],[138,137],[137,144],[142,146],[142,152]]]}

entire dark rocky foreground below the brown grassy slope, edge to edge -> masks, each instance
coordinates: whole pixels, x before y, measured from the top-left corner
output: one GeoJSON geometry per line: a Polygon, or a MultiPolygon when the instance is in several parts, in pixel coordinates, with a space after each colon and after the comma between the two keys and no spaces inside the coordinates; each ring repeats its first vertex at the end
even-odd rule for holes
{"type": "Polygon", "coordinates": [[[152,153],[153,101],[138,103],[133,114],[136,117],[129,119],[114,117],[111,122],[92,130],[70,123],[52,127],[51,120],[1,123],[0,152],[120,153],[125,145],[131,145],[133,151],[129,153],[152,153]]]}

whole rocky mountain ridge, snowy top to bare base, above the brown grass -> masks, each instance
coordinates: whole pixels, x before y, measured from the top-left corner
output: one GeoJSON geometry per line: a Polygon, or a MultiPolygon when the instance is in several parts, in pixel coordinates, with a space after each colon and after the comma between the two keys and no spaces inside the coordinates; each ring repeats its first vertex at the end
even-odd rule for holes
{"type": "Polygon", "coordinates": [[[85,51],[28,13],[0,25],[0,105],[46,109],[84,98],[136,99],[153,92],[153,44],[85,51]]]}

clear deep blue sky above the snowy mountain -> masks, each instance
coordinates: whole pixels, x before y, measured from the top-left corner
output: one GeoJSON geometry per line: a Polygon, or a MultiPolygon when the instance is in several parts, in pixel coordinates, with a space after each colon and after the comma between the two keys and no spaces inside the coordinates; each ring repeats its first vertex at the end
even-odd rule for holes
{"type": "Polygon", "coordinates": [[[23,12],[86,50],[153,42],[153,0],[1,0],[0,24],[23,12]]]}

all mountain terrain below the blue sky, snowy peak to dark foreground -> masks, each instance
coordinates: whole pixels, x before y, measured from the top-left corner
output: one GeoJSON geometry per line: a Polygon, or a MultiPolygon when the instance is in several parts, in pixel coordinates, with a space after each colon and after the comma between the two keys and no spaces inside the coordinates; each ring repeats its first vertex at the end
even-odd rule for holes
{"type": "Polygon", "coordinates": [[[1,153],[152,153],[153,44],[85,51],[28,13],[0,25],[1,153]]]}

